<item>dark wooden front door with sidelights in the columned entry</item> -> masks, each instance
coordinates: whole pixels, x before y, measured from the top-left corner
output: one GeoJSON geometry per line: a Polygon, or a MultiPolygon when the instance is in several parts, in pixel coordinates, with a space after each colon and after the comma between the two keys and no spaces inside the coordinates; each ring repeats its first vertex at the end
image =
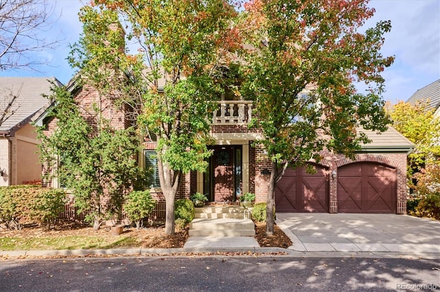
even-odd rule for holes
{"type": "Polygon", "coordinates": [[[234,202],[241,194],[241,145],[211,147],[210,166],[204,174],[203,193],[210,202],[234,202]]]}

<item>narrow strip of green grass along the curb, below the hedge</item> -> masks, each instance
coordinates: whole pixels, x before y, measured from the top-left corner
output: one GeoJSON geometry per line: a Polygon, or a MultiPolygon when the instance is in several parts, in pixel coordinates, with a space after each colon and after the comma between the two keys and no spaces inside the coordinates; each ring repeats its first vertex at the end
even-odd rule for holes
{"type": "Polygon", "coordinates": [[[89,250],[118,247],[139,247],[130,236],[44,236],[32,238],[0,237],[0,250],[89,250]]]}

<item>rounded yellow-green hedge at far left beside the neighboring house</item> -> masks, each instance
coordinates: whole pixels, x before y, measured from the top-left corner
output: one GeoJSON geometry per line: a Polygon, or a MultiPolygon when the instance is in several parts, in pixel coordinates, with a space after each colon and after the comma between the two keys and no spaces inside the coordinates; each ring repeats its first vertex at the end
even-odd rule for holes
{"type": "Polygon", "coordinates": [[[56,219],[63,211],[66,195],[63,190],[40,186],[0,187],[0,222],[20,229],[24,223],[43,224],[56,219]]]}

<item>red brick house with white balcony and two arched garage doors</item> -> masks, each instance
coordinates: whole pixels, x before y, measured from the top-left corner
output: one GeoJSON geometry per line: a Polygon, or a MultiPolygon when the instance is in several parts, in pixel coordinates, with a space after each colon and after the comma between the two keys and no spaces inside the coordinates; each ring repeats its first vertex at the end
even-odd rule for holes
{"type": "MultiPolygon", "coordinates": [[[[93,88],[78,88],[70,82],[72,92],[83,108],[94,102],[106,103],[93,88]]],[[[160,88],[159,88],[160,89],[160,88]]],[[[177,193],[189,197],[199,192],[209,202],[231,204],[243,193],[255,193],[256,202],[265,202],[268,190],[270,162],[254,141],[261,138],[260,130],[248,129],[252,118],[252,101],[222,97],[218,110],[212,114],[210,135],[213,155],[206,172],[192,171],[183,176],[177,193]]],[[[127,127],[129,112],[106,105],[105,116],[115,127],[127,127]]],[[[87,112],[87,110],[86,110],[87,112]]],[[[47,121],[47,134],[56,126],[47,121]]],[[[392,127],[382,134],[364,131],[373,141],[349,160],[341,154],[323,151],[323,159],[314,164],[311,175],[304,168],[287,169],[276,187],[276,212],[366,212],[406,213],[406,156],[413,145],[392,127]]],[[[155,167],[155,143],[144,142],[139,157],[142,167],[155,167]]],[[[49,170],[52,171],[52,170],[49,170]]],[[[159,200],[157,217],[164,217],[164,198],[157,173],[154,173],[151,193],[159,200]]],[[[56,180],[48,182],[58,186],[56,180]]]]}

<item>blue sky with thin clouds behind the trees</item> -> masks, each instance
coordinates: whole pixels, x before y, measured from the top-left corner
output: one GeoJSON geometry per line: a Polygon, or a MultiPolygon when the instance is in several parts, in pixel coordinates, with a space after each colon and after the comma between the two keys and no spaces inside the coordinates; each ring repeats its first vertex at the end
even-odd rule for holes
{"type": "MultiPolygon", "coordinates": [[[[56,77],[67,84],[75,71],[67,63],[69,45],[76,42],[82,32],[78,12],[80,0],[50,0],[54,5],[52,29],[47,37],[60,36],[57,49],[35,54],[38,60],[47,60],[38,71],[3,71],[1,76],[56,77]],[[59,16],[59,18],[58,18],[59,16]]],[[[406,101],[419,88],[440,79],[440,0],[371,0],[375,8],[373,18],[366,26],[377,21],[391,20],[391,32],[385,34],[383,56],[395,56],[395,62],[386,68],[386,101],[395,104],[406,101]]]]}

